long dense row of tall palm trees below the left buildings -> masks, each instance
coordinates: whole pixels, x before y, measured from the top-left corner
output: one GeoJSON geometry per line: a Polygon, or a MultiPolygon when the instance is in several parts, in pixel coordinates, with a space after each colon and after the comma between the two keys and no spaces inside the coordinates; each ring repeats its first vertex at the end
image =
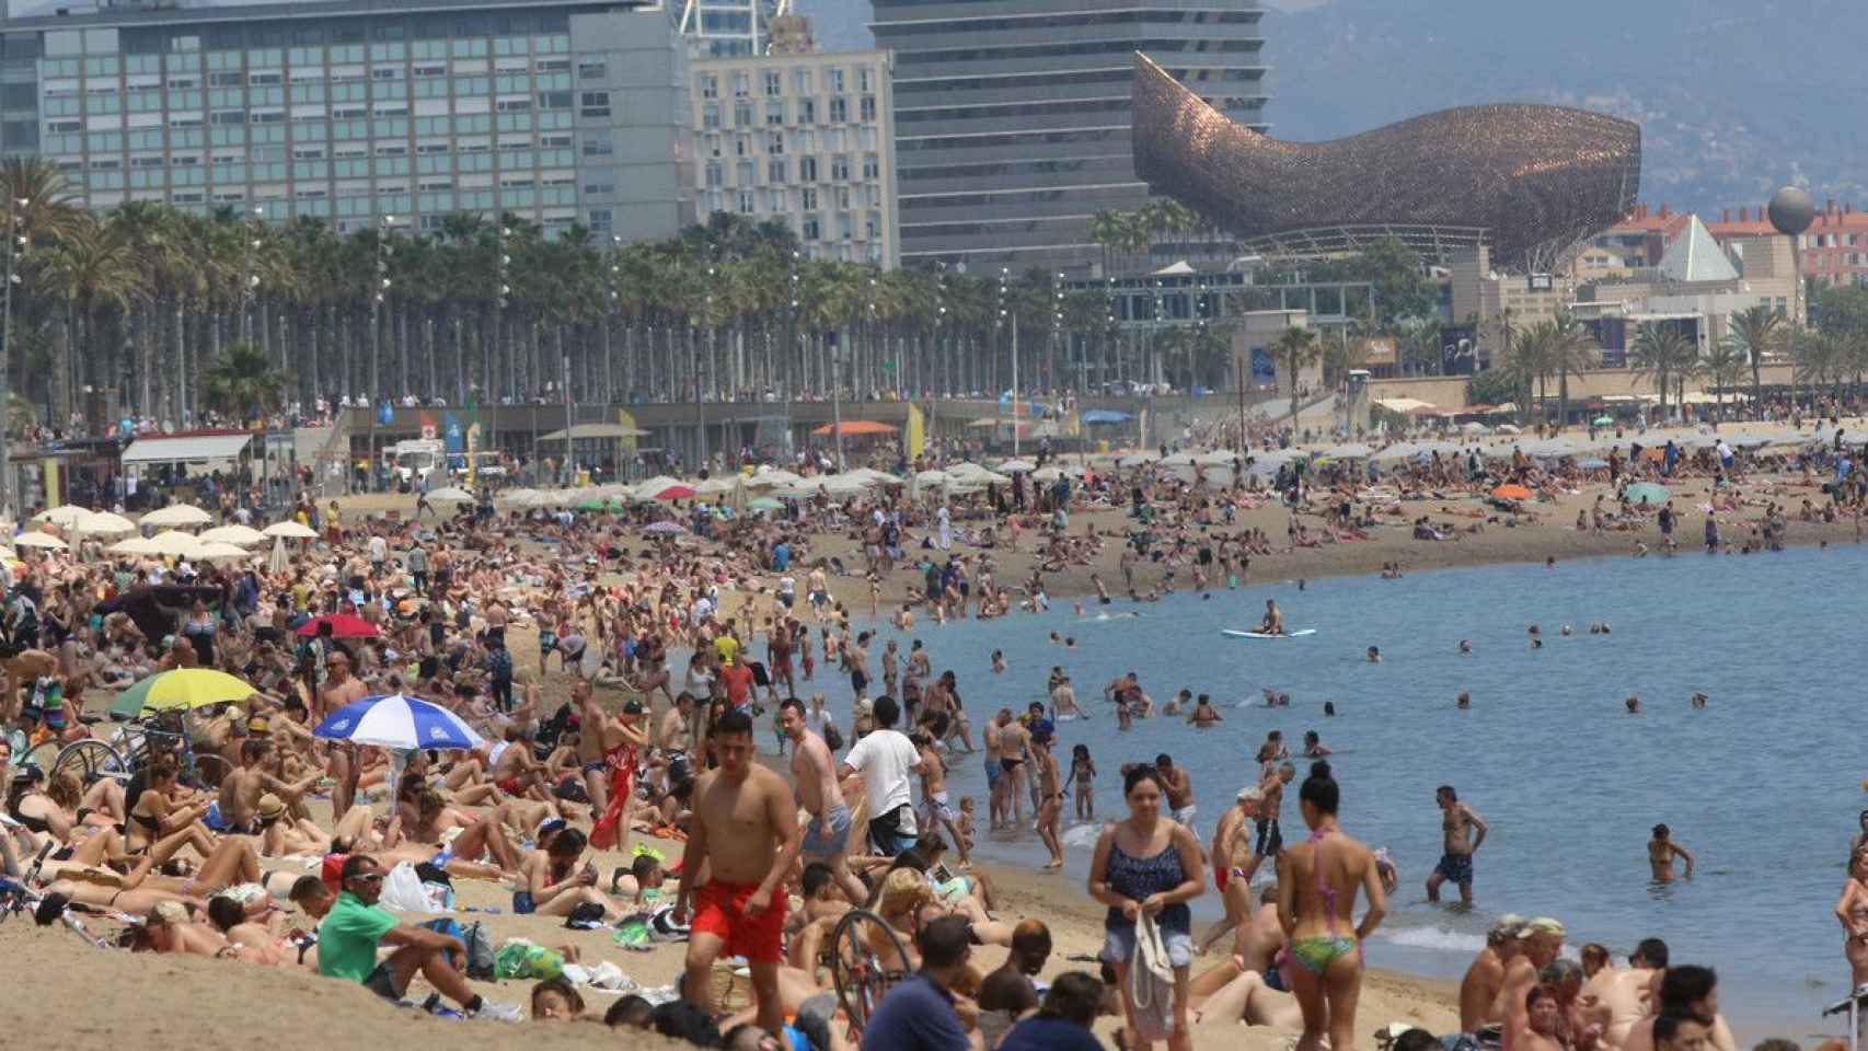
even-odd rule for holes
{"type": "Polygon", "coordinates": [[[630,245],[473,215],[340,235],[149,202],[93,215],[41,159],[0,162],[0,181],[19,233],[6,375],[54,422],[86,392],[177,426],[344,398],[557,401],[564,383],[579,401],[992,396],[1014,329],[1024,390],[1156,360],[1214,383],[1227,358],[1209,330],[1121,338],[1110,299],[1059,274],[809,259],[783,222],[734,215],[630,245]]]}

